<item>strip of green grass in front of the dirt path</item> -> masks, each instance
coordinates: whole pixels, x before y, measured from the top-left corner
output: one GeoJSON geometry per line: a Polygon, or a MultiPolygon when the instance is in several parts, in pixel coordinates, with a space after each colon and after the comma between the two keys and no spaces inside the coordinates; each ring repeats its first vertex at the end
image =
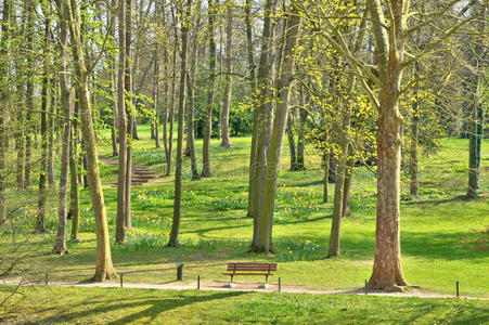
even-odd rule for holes
{"type": "Polygon", "coordinates": [[[24,287],[0,322],[488,324],[489,301],[357,295],[24,287]]]}

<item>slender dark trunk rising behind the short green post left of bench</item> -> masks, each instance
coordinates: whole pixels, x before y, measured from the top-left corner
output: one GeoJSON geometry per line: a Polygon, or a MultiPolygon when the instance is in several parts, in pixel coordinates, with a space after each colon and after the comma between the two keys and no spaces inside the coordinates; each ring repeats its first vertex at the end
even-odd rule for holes
{"type": "Polygon", "coordinates": [[[189,37],[189,24],[191,17],[192,0],[186,0],[184,15],[181,22],[182,30],[182,51],[181,51],[181,74],[180,91],[178,101],[178,141],[177,141],[177,166],[175,170],[175,203],[173,203],[173,222],[171,224],[171,234],[168,246],[179,246],[179,231],[181,218],[181,196],[182,196],[182,164],[183,164],[183,121],[185,118],[185,86],[186,86],[186,42],[189,37]]]}

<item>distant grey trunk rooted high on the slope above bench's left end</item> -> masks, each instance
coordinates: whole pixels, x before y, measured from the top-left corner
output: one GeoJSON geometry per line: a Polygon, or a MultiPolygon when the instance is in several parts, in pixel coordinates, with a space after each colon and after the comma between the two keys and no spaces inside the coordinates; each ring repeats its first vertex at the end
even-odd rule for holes
{"type": "Polygon", "coordinates": [[[228,0],[227,8],[227,26],[226,26],[226,76],[224,102],[222,103],[221,114],[221,146],[231,147],[231,139],[229,136],[229,110],[231,106],[232,91],[232,46],[233,46],[233,10],[234,0],[228,0]]]}

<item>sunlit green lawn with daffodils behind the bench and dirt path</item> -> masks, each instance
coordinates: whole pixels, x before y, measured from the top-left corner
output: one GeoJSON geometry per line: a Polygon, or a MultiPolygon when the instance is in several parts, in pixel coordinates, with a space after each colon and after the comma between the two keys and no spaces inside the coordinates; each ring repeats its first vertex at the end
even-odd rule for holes
{"type": "MultiPolygon", "coordinates": [[[[141,140],[134,153],[137,164],[147,165],[164,173],[163,157],[153,148],[147,126],[139,127],[141,140]],[[159,155],[159,156],[158,156],[159,155]]],[[[108,136],[107,136],[108,138],[108,136]]],[[[190,180],[190,165],[184,164],[181,243],[179,248],[165,247],[171,226],[173,179],[164,178],[157,184],[133,187],[132,216],[136,232],[123,247],[113,246],[114,265],[126,273],[129,283],[158,283],[172,281],[175,263],[184,262],[184,281],[197,275],[203,281],[228,281],[222,275],[229,261],[278,261],[280,276],[285,284],[303,285],[311,289],[350,289],[363,285],[372,271],[375,244],[375,177],[364,168],[356,169],[351,191],[352,217],[342,224],[342,258],[324,259],[327,250],[332,204],[321,204],[323,176],[320,156],[307,146],[306,171],[289,172],[288,148],[283,150],[283,170],[280,173],[273,238],[278,256],[256,256],[245,251],[249,245],[253,221],[246,218],[246,191],[249,138],[232,139],[231,150],[211,143],[214,178],[190,180]]],[[[201,157],[202,141],[197,141],[201,157]]],[[[476,231],[489,225],[489,202],[467,202],[462,198],[467,180],[467,140],[443,139],[442,150],[421,161],[420,199],[409,196],[408,178],[403,174],[401,202],[402,263],[408,282],[425,290],[453,294],[455,282],[461,292],[489,297],[489,252],[473,250],[464,245],[463,236],[474,237],[476,231]]],[[[484,170],[480,193],[489,196],[489,148],[484,147],[484,170]]],[[[163,151],[163,150],[160,150],[163,151]]],[[[101,142],[100,152],[108,156],[111,147],[101,142]]],[[[115,234],[116,169],[102,165],[103,185],[110,233],[115,234]]],[[[333,193],[330,184],[330,193],[333,193]]],[[[17,195],[28,199],[36,192],[17,195]]],[[[33,202],[31,209],[35,208],[33,202]]],[[[93,213],[89,193],[81,191],[82,243],[69,243],[69,255],[51,256],[55,212],[49,221],[50,233],[28,237],[25,251],[33,251],[25,265],[30,278],[42,278],[50,272],[51,281],[77,282],[90,277],[95,259],[93,213]]],[[[52,193],[50,209],[55,211],[56,196],[52,193]]],[[[20,217],[24,230],[33,229],[34,212],[20,217]]],[[[8,237],[0,236],[0,253],[8,249],[8,237]]],[[[241,278],[260,282],[261,277],[241,278]]]]}

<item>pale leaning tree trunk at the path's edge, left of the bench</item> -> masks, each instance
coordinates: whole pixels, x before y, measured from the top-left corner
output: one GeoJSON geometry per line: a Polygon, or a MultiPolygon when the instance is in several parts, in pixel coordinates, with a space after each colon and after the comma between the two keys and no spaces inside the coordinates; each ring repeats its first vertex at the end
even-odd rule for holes
{"type": "Polygon", "coordinates": [[[81,132],[86,141],[87,150],[87,174],[89,179],[92,208],[95,214],[96,262],[93,281],[103,282],[105,280],[111,280],[116,275],[116,272],[112,264],[107,217],[100,179],[95,132],[93,128],[90,92],[88,89],[89,76],[85,65],[82,44],[80,41],[80,9],[77,0],[63,0],[63,6],[65,6],[68,11],[68,15],[65,15],[65,17],[67,17],[72,36],[72,51],[77,77],[77,90],[79,94],[81,132]]]}

